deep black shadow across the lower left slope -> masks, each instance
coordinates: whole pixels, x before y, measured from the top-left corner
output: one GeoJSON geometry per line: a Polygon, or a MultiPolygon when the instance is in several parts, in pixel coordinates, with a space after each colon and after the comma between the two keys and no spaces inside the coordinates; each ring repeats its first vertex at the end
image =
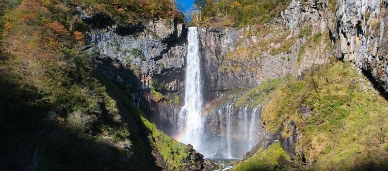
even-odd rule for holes
{"type": "MultiPolygon", "coordinates": [[[[40,98],[37,93],[20,89],[0,75],[0,170],[162,170],[151,155],[152,148],[147,139],[151,130],[142,123],[136,106],[111,83],[104,85],[117,101],[119,114],[128,123],[132,154],[94,138],[97,131],[75,138],[58,124],[58,118],[46,116],[53,107],[51,104],[34,103],[40,98]]],[[[105,106],[101,105],[101,108],[102,114],[91,129],[95,130],[94,126],[99,124],[116,127],[107,116],[105,106]]]]}

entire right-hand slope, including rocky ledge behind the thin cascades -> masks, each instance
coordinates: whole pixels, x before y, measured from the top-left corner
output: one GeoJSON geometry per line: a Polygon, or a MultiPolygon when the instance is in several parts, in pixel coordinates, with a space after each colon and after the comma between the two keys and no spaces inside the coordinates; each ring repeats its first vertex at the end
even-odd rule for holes
{"type": "MultiPolygon", "coordinates": [[[[259,132],[258,145],[232,170],[387,167],[388,102],[354,64],[333,61],[314,65],[298,78],[269,79],[258,87],[230,94],[205,109],[208,128],[215,134],[225,136],[226,121],[218,111],[232,104],[231,136],[248,141],[244,140],[244,111],[264,106],[259,113],[258,127],[262,129],[254,129],[259,132]]],[[[248,116],[248,121],[251,117],[254,115],[248,116]]]]}

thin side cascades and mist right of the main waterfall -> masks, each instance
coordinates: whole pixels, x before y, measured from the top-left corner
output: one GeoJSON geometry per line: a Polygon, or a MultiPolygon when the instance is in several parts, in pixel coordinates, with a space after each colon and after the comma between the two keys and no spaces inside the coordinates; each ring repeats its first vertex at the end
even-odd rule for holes
{"type": "Polygon", "coordinates": [[[216,126],[211,129],[216,134],[204,141],[210,157],[241,158],[263,140],[265,132],[260,121],[262,105],[249,109],[248,105],[236,107],[236,102],[237,98],[229,100],[208,116],[211,121],[218,121],[209,123],[216,126]]]}

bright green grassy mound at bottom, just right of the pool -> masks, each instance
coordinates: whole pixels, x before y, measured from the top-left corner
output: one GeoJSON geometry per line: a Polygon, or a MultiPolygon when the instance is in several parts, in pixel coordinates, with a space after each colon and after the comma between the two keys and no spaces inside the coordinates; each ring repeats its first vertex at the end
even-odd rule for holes
{"type": "Polygon", "coordinates": [[[232,168],[232,171],[284,171],[288,167],[279,163],[281,159],[291,161],[290,156],[280,146],[280,142],[276,142],[247,160],[240,162],[232,168]]]}

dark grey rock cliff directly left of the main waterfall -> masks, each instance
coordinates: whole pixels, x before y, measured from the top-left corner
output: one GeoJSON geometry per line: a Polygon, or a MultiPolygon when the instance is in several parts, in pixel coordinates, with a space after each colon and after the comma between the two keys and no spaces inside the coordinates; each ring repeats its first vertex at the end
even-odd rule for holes
{"type": "MultiPolygon", "coordinates": [[[[86,20],[86,14],[81,15],[86,20]]],[[[86,33],[88,51],[98,71],[119,85],[132,102],[149,113],[167,133],[183,99],[187,27],[176,20],[149,21],[140,28],[93,28],[86,33]]],[[[179,112],[179,111],[178,111],[179,112]]]]}

